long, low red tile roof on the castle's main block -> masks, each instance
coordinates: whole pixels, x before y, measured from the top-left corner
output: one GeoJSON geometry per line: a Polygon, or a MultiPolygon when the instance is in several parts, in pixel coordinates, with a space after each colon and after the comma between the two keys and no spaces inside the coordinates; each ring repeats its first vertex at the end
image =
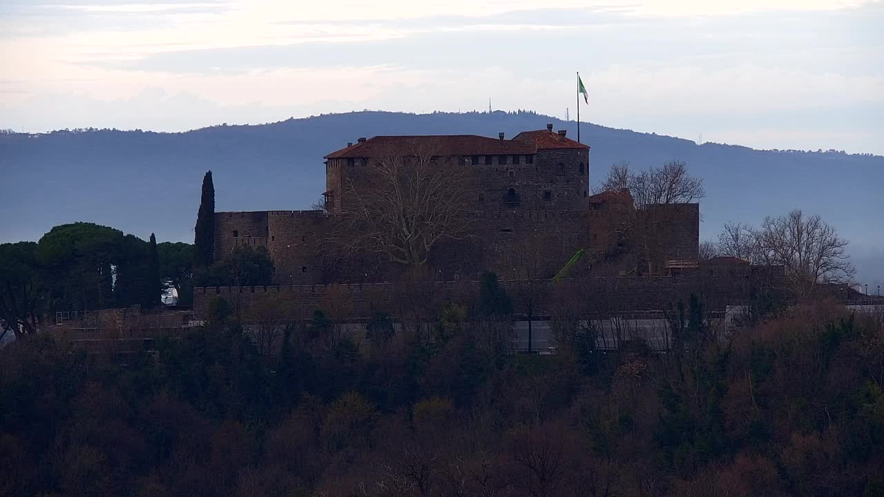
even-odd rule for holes
{"type": "Polygon", "coordinates": [[[378,157],[389,150],[419,149],[438,156],[534,154],[530,142],[499,140],[476,134],[431,134],[415,136],[375,136],[350,147],[331,152],[324,158],[378,157]]]}

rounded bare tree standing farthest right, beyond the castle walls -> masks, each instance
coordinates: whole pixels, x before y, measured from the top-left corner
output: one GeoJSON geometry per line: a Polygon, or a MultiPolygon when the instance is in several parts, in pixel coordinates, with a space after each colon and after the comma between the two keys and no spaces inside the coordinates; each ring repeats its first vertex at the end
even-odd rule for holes
{"type": "Polygon", "coordinates": [[[811,294],[820,284],[846,283],[854,274],[848,242],[819,216],[792,210],[765,218],[757,233],[758,254],[766,264],[781,264],[796,294],[811,294]]]}

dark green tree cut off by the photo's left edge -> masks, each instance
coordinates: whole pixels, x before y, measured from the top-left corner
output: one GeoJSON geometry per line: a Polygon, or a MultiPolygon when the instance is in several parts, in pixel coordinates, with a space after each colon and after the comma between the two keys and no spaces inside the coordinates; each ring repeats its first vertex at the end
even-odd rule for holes
{"type": "Polygon", "coordinates": [[[0,244],[0,338],[37,332],[47,303],[42,268],[33,241],[0,244]]]}

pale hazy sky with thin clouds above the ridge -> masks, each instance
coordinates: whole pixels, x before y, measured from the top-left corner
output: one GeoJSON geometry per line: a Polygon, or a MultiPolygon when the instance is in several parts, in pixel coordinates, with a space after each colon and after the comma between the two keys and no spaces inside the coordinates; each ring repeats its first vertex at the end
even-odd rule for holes
{"type": "Polygon", "coordinates": [[[0,127],[530,109],[884,154],[884,3],[0,0],[0,127]]]}

